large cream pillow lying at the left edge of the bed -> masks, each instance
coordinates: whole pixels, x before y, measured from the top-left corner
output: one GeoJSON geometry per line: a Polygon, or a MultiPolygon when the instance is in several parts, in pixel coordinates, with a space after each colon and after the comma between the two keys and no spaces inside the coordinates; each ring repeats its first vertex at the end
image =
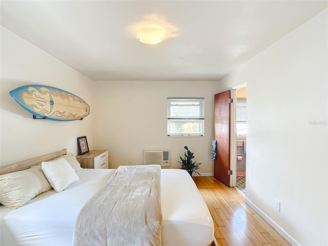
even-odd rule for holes
{"type": "Polygon", "coordinates": [[[9,209],[22,207],[40,193],[51,190],[41,166],[0,175],[0,203],[9,209]]]}

